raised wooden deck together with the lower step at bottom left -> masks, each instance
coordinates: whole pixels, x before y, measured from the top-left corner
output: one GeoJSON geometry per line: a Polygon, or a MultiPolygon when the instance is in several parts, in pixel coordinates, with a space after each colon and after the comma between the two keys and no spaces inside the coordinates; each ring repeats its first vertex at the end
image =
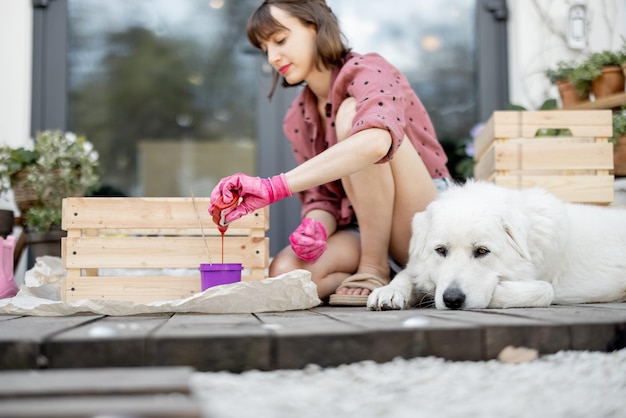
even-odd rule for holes
{"type": "Polygon", "coordinates": [[[0,417],[202,417],[196,371],[336,366],[506,346],[626,345],[626,303],[545,309],[369,312],[318,307],[255,315],[0,315],[0,417]]]}

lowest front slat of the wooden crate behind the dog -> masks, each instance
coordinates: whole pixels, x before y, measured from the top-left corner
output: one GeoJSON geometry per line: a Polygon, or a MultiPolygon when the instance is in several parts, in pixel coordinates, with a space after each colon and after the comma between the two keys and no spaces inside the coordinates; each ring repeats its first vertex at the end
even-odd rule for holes
{"type": "Polygon", "coordinates": [[[614,199],[613,176],[496,176],[499,186],[543,187],[568,202],[607,204],[614,199]]]}

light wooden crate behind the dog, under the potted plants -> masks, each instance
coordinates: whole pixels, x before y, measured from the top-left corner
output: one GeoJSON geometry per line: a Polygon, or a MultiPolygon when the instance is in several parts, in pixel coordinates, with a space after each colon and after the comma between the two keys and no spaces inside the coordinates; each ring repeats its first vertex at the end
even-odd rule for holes
{"type": "Polygon", "coordinates": [[[610,110],[497,111],[474,141],[474,178],[543,187],[569,202],[609,204],[612,134],[610,110]],[[548,129],[569,129],[572,136],[537,136],[548,129]]]}

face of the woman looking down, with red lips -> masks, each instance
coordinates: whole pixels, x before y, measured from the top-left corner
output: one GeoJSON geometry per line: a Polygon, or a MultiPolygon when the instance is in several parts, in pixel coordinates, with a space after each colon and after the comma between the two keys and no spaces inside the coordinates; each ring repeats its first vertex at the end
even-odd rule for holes
{"type": "Polygon", "coordinates": [[[270,6],[270,13],[285,29],[278,30],[261,42],[269,64],[289,84],[299,84],[318,73],[314,62],[315,28],[302,24],[300,19],[276,6],[270,6]]]}

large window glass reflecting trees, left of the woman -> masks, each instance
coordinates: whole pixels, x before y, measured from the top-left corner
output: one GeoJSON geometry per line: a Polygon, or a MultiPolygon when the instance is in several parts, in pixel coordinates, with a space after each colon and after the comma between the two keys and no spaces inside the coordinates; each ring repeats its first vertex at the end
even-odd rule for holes
{"type": "Polygon", "coordinates": [[[69,0],[68,126],[127,195],[210,192],[255,172],[257,1],[69,0]]]}

